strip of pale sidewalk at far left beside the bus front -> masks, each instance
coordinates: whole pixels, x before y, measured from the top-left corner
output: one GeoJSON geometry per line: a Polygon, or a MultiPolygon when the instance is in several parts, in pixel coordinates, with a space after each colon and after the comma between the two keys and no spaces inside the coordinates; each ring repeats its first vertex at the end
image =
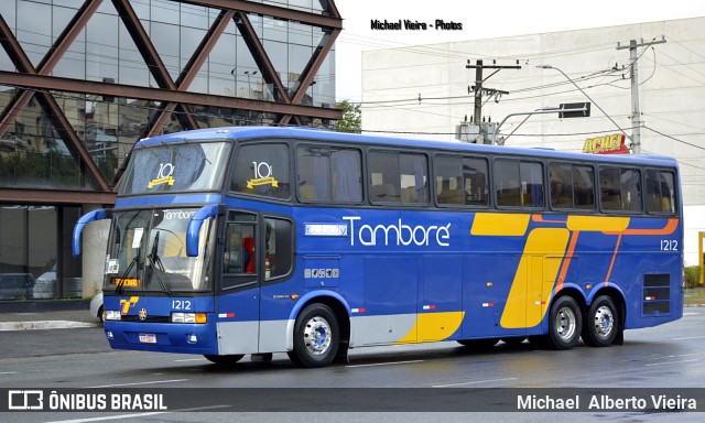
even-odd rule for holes
{"type": "Polygon", "coordinates": [[[99,327],[88,301],[0,303],[0,332],[99,327]]]}

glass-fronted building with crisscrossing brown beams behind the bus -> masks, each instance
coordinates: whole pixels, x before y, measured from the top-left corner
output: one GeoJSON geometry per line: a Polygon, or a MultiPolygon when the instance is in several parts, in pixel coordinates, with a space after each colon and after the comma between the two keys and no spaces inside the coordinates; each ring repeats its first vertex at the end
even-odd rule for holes
{"type": "Polygon", "coordinates": [[[64,243],[137,140],[341,117],[333,0],[8,0],[0,18],[0,301],[76,296],[64,243]]]}

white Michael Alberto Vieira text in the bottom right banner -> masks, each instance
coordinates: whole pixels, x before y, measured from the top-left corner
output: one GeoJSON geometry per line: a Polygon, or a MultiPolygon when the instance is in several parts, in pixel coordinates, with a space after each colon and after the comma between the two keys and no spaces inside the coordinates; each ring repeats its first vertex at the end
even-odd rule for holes
{"type": "Polygon", "coordinates": [[[581,409],[581,395],[551,398],[551,395],[518,395],[518,410],[697,410],[697,401],[692,398],[664,394],[614,398],[590,395],[587,409],[581,409]]]}

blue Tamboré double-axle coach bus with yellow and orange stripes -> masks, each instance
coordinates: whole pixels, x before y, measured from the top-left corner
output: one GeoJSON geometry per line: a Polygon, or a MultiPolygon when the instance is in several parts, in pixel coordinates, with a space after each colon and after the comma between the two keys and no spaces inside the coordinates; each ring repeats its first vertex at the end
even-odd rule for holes
{"type": "Polygon", "coordinates": [[[683,314],[675,160],[216,128],[138,142],[110,219],[112,348],[216,364],[527,338],[568,349],[683,314]]]}

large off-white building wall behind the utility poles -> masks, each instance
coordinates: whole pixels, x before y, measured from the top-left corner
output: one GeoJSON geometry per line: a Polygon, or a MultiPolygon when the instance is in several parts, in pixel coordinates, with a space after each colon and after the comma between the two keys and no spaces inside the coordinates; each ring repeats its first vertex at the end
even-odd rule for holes
{"type": "MultiPolygon", "coordinates": [[[[589,101],[555,69],[561,68],[595,100],[589,118],[558,119],[556,115],[513,117],[500,128],[506,145],[582,151],[587,139],[631,134],[629,51],[617,50],[630,40],[665,36],[654,50],[639,50],[642,152],[675,156],[681,165],[685,206],[705,204],[705,18],[474,40],[427,46],[365,52],[362,54],[362,128],[404,131],[425,139],[454,140],[455,126],[473,115],[475,69],[469,59],[497,59],[502,69],[486,87],[509,91],[488,101],[482,115],[501,121],[510,113],[560,104],[589,101]],[[619,69],[609,72],[617,66],[619,69]],[[607,70],[599,73],[600,70],[607,70]],[[623,75],[623,77],[622,77],[623,75]],[[421,96],[421,101],[419,101],[421,96]],[[598,105],[617,123],[596,107],[598,105]],[[671,135],[676,140],[657,133],[671,135]]],[[[487,77],[492,69],[485,69],[487,77]]]]}

